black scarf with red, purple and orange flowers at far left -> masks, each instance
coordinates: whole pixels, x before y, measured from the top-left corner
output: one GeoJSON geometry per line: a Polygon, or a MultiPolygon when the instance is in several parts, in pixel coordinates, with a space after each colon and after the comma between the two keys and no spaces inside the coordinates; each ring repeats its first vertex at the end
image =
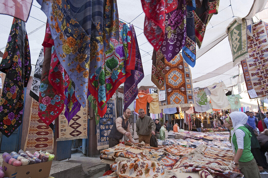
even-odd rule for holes
{"type": "Polygon", "coordinates": [[[0,131],[6,137],[21,125],[24,87],[27,87],[31,69],[25,22],[14,18],[0,64],[0,71],[6,73],[0,100],[0,131]]]}

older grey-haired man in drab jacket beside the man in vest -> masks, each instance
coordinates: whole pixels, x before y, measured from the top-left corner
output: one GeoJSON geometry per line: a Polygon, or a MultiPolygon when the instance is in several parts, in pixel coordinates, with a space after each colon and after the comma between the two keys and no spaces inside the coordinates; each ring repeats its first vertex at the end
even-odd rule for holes
{"type": "Polygon", "coordinates": [[[136,121],[136,132],[139,142],[150,143],[152,134],[155,135],[155,123],[150,116],[145,115],[143,109],[139,109],[140,118],[136,121]]]}

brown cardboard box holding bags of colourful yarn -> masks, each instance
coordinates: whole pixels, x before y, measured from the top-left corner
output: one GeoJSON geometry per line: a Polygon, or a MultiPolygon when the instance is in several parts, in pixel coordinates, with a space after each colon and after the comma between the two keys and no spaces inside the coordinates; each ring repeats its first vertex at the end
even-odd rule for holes
{"type": "Polygon", "coordinates": [[[52,161],[30,164],[25,166],[12,166],[3,161],[2,167],[6,177],[10,178],[46,178],[49,177],[52,161]]]}

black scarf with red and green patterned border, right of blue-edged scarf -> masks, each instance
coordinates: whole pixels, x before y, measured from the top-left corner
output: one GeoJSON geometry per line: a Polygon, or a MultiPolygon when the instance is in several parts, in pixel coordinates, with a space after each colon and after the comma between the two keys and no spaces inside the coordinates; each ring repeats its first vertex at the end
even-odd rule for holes
{"type": "Polygon", "coordinates": [[[201,47],[207,24],[213,16],[218,14],[219,0],[196,0],[194,12],[196,44],[201,47]]]}

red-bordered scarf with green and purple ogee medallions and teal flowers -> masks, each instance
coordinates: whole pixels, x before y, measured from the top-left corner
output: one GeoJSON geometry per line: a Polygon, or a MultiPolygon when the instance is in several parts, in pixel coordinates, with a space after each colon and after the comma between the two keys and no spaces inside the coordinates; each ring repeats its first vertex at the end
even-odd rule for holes
{"type": "Polygon", "coordinates": [[[89,79],[89,91],[97,100],[98,114],[106,113],[106,102],[113,96],[120,84],[126,81],[135,69],[135,40],[128,26],[119,22],[119,41],[111,39],[111,50],[105,52],[105,61],[89,79]]]}

